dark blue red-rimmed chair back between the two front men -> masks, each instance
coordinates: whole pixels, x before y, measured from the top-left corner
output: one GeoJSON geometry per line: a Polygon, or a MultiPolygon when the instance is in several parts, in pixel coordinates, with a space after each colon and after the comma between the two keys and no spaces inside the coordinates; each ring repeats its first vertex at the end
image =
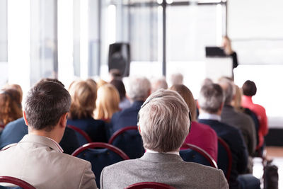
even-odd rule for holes
{"type": "Polygon", "coordinates": [[[119,161],[129,159],[122,150],[103,142],[84,144],[71,155],[91,162],[98,188],[100,188],[100,173],[105,166],[110,166],[119,161]]]}

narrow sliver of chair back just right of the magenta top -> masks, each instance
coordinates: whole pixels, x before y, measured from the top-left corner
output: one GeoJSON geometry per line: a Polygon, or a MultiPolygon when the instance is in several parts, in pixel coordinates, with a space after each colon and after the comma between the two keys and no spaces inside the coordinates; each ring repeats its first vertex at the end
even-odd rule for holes
{"type": "Polygon", "coordinates": [[[228,144],[220,137],[218,137],[217,166],[223,171],[227,181],[229,182],[232,169],[232,152],[228,144]]]}

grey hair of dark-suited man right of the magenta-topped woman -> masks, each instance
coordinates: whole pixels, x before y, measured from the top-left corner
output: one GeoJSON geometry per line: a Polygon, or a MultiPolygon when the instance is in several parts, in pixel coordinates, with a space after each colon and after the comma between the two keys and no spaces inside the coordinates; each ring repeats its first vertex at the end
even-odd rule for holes
{"type": "Polygon", "coordinates": [[[224,101],[224,94],[219,84],[207,84],[200,89],[198,103],[207,113],[217,113],[224,101]]]}

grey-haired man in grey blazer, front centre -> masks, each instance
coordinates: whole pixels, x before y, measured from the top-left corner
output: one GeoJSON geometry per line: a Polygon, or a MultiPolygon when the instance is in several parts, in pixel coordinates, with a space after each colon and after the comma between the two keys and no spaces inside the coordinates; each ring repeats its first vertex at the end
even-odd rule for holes
{"type": "Polygon", "coordinates": [[[221,170],[185,162],[179,149],[190,130],[189,108],[175,91],[151,94],[139,110],[139,132],[146,153],[140,159],[107,166],[100,176],[103,189],[139,182],[159,182],[175,188],[229,188],[221,170]]]}

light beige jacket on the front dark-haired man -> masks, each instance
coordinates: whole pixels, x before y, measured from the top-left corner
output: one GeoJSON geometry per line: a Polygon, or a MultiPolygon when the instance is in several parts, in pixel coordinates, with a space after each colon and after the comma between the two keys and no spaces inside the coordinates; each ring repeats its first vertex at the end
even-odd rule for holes
{"type": "Polygon", "coordinates": [[[88,161],[63,154],[59,144],[32,134],[0,151],[0,175],[20,178],[38,189],[96,188],[88,161]]]}

